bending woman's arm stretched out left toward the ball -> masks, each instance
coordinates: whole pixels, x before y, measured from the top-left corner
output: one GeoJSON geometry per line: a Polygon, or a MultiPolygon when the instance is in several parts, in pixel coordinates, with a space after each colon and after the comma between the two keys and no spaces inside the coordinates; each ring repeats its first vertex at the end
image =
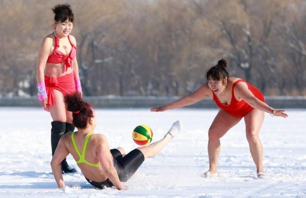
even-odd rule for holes
{"type": "Polygon", "coordinates": [[[184,96],[184,97],[178,99],[177,101],[174,101],[174,102],[172,102],[170,104],[167,104],[163,107],[155,107],[155,108],[151,108],[150,110],[154,111],[154,112],[161,112],[161,111],[166,111],[166,110],[169,110],[169,109],[176,109],[176,108],[189,106],[189,105],[192,105],[192,104],[194,104],[196,102],[199,102],[199,101],[203,100],[204,98],[206,98],[206,96],[208,95],[208,91],[209,91],[208,84],[205,83],[204,85],[201,85],[192,94],[184,96]]]}

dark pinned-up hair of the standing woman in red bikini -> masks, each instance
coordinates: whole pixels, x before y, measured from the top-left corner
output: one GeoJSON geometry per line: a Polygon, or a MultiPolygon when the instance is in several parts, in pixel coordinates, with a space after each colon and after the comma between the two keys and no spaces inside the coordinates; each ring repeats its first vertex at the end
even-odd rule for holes
{"type": "Polygon", "coordinates": [[[69,20],[69,22],[73,22],[73,12],[71,9],[71,5],[69,5],[68,3],[65,4],[57,4],[56,6],[54,6],[52,8],[52,11],[54,12],[55,16],[54,16],[54,20],[56,22],[64,22],[67,19],[69,20]]]}

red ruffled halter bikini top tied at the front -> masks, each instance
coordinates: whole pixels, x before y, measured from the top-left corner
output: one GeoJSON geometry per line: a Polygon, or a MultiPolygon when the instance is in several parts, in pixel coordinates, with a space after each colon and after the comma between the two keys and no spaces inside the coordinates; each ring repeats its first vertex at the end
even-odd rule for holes
{"type": "Polygon", "coordinates": [[[68,35],[68,40],[71,44],[71,51],[68,55],[64,54],[63,52],[59,51],[57,48],[60,46],[60,39],[55,36],[55,47],[52,54],[48,57],[47,63],[62,63],[65,61],[64,70],[67,71],[68,67],[72,68],[72,61],[77,56],[77,47],[72,44],[70,41],[70,36],[68,35]]]}

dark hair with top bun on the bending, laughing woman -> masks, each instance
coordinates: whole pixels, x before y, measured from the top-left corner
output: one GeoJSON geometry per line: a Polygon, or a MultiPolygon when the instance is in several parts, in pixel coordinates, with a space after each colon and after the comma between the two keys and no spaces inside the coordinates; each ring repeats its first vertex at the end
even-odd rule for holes
{"type": "Polygon", "coordinates": [[[221,59],[218,64],[208,69],[206,72],[206,79],[221,80],[223,81],[225,77],[229,78],[229,73],[226,71],[226,61],[221,59]]]}

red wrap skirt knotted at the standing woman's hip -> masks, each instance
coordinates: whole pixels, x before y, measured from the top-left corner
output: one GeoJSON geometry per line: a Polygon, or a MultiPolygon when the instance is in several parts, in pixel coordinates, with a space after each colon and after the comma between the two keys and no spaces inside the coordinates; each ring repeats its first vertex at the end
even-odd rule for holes
{"type": "Polygon", "coordinates": [[[55,78],[53,76],[45,76],[45,85],[48,95],[47,105],[45,107],[46,111],[49,111],[50,105],[55,105],[54,99],[54,89],[61,91],[63,96],[66,94],[71,94],[76,91],[76,84],[74,82],[74,73],[55,78]]]}

